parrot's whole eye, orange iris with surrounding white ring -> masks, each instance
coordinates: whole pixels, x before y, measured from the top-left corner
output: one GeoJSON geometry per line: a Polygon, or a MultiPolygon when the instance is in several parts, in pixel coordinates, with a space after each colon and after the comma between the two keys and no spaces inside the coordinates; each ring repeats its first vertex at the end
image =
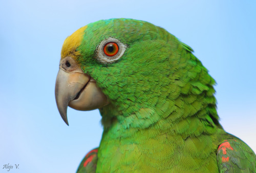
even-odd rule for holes
{"type": "Polygon", "coordinates": [[[101,63],[112,63],[121,58],[126,45],[116,38],[108,38],[100,42],[96,49],[96,58],[101,63]]]}

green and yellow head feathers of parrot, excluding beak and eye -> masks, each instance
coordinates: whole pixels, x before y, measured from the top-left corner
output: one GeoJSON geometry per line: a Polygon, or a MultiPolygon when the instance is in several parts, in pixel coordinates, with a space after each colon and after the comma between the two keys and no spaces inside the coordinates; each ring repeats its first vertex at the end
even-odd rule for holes
{"type": "Polygon", "coordinates": [[[193,50],[163,28],[134,19],[100,20],[76,31],[65,44],[63,57],[75,57],[110,100],[100,109],[105,127],[117,120],[124,128],[146,128],[188,116],[218,122],[215,80],[193,50]],[[119,40],[125,51],[116,61],[102,63],[98,47],[109,38],[119,40]]]}

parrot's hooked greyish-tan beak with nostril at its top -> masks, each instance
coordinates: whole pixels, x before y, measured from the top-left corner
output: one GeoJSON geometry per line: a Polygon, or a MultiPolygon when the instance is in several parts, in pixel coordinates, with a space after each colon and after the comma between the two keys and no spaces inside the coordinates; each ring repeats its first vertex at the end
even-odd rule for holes
{"type": "Polygon", "coordinates": [[[84,74],[75,60],[66,57],[60,61],[55,83],[55,99],[61,118],[68,123],[68,106],[79,111],[90,111],[109,103],[97,87],[96,81],[84,74]]]}

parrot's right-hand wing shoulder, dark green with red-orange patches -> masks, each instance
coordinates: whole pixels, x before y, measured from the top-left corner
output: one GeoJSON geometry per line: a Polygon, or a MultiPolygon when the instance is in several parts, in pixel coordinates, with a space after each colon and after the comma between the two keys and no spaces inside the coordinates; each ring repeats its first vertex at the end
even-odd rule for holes
{"type": "Polygon", "coordinates": [[[256,172],[256,155],[234,136],[219,145],[217,162],[220,172],[256,172]]]}

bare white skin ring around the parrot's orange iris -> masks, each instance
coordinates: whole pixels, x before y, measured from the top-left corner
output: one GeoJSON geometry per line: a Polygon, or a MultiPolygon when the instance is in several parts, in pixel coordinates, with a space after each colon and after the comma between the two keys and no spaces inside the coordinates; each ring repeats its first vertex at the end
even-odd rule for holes
{"type": "Polygon", "coordinates": [[[105,63],[105,64],[112,63],[117,61],[119,58],[121,58],[126,48],[127,46],[122,44],[122,42],[119,41],[118,39],[109,37],[101,41],[98,47],[96,48],[96,58],[101,63],[105,63]],[[118,45],[118,52],[114,56],[108,56],[104,53],[104,46],[109,42],[114,42],[115,44],[118,45]]]}

